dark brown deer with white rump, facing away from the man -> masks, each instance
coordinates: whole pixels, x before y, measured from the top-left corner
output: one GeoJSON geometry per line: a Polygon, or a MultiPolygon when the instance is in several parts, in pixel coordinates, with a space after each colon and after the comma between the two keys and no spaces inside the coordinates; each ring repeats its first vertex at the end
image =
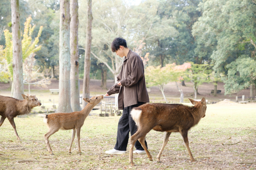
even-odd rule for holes
{"type": "Polygon", "coordinates": [[[191,161],[195,161],[189,148],[188,131],[194,127],[201,118],[205,117],[206,100],[195,101],[189,98],[189,101],[194,106],[186,106],[183,104],[143,104],[131,110],[131,117],[136,123],[137,132],[131,136],[130,140],[130,155],[129,163],[134,166],[133,148],[137,140],[147,153],[150,161],[153,161],[152,156],[148,152],[145,145],[145,136],[150,130],[165,132],[163,146],[157,155],[157,162],[160,162],[160,157],[166,146],[169,136],[172,132],[179,132],[183,138],[186,148],[189,152],[191,161]]]}

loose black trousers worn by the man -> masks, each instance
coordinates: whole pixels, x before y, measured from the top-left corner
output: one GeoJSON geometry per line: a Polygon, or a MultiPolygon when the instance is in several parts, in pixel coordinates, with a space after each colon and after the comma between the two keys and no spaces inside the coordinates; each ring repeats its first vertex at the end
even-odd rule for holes
{"type": "MultiPolygon", "coordinates": [[[[129,132],[131,132],[131,136],[137,132],[137,126],[130,115],[131,109],[134,107],[139,107],[143,104],[145,103],[138,101],[138,104],[134,104],[123,109],[122,116],[118,122],[116,145],[114,149],[126,151],[129,139],[129,132]]],[[[145,145],[148,148],[146,140],[145,145]]],[[[139,141],[136,141],[134,146],[137,150],[144,150],[139,141]]]]}

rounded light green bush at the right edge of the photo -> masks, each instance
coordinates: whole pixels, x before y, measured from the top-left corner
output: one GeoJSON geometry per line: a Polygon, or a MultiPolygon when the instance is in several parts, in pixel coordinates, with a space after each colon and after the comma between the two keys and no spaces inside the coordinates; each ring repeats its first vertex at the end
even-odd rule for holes
{"type": "Polygon", "coordinates": [[[254,84],[256,80],[256,61],[252,58],[241,56],[228,64],[227,69],[227,77],[223,78],[225,94],[239,92],[254,84]]]}

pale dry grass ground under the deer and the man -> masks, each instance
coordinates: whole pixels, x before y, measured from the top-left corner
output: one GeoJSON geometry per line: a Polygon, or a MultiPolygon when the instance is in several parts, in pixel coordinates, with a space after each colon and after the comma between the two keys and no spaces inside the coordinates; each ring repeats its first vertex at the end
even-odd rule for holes
{"type": "Polygon", "coordinates": [[[87,117],[81,129],[82,154],[77,153],[76,139],[72,153],[68,153],[71,130],[59,130],[49,138],[54,156],[49,155],[44,142],[44,134],[48,128],[42,117],[15,118],[22,141],[17,141],[14,130],[6,119],[0,127],[0,169],[255,170],[255,111],[256,104],[207,105],[206,117],[189,131],[189,145],[195,162],[189,161],[180,134],[172,133],[163,151],[162,162],[157,163],[156,156],[163,143],[163,133],[152,130],[146,140],[154,161],[149,161],[146,155],[134,155],[134,167],[128,163],[129,151],[117,156],[105,154],[105,150],[113,149],[116,142],[119,116],[87,117]],[[235,144],[237,142],[239,143],[235,144]]]}

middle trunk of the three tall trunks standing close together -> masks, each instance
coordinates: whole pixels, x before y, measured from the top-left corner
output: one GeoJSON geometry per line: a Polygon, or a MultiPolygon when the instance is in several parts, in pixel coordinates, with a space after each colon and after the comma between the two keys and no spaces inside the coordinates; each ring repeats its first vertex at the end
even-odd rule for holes
{"type": "Polygon", "coordinates": [[[70,54],[71,54],[71,107],[80,111],[79,49],[78,49],[78,0],[70,0],[70,54]]]}

